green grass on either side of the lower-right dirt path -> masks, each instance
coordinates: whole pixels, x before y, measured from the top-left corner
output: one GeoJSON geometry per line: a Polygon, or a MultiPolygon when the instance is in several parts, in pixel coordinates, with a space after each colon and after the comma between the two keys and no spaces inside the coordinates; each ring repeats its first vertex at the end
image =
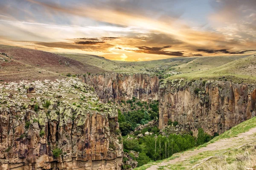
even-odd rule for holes
{"type": "MultiPolygon", "coordinates": [[[[189,150],[189,153],[192,153],[195,149],[200,149],[201,147],[206,147],[208,144],[216,142],[220,139],[226,139],[231,137],[236,137],[240,133],[244,133],[249,131],[251,128],[256,127],[256,117],[253,117],[247,121],[244,121],[240,123],[239,125],[236,125],[235,127],[232,127],[230,130],[227,130],[226,132],[222,133],[220,136],[215,137],[210,142],[202,144],[196,148],[192,148],[189,150]]],[[[256,133],[254,134],[256,136],[256,133]]],[[[244,139],[242,139],[244,140],[244,139]]],[[[241,141],[242,142],[242,141],[241,141]]],[[[208,159],[206,163],[203,163],[200,165],[200,167],[195,168],[196,170],[233,170],[233,169],[240,169],[240,170],[246,170],[246,167],[256,167],[256,145],[250,144],[251,149],[247,150],[247,145],[244,147],[241,147],[240,149],[236,149],[237,146],[239,146],[239,143],[241,142],[237,141],[236,144],[230,145],[229,148],[226,149],[220,149],[220,150],[210,150],[210,151],[204,151],[201,153],[198,153],[194,156],[190,156],[189,158],[185,159],[184,161],[179,161],[174,164],[168,164],[166,166],[160,166],[158,170],[164,170],[164,169],[172,169],[172,170],[184,170],[184,169],[190,169],[196,164],[199,164],[202,160],[208,159]],[[238,144],[238,145],[237,145],[238,144]],[[240,157],[237,157],[237,156],[240,157]],[[240,159],[240,161],[239,161],[240,159]],[[241,159],[244,159],[241,161],[241,159]],[[222,162],[221,162],[222,161],[222,162]],[[216,167],[217,162],[217,167],[216,167]],[[218,164],[218,162],[221,162],[221,165],[218,164]],[[252,166],[250,166],[252,165],[252,166]],[[207,167],[207,168],[206,168],[207,167]]],[[[186,153],[185,154],[188,154],[186,153]]],[[[176,153],[175,156],[172,156],[170,158],[157,161],[157,162],[151,162],[149,164],[143,165],[142,167],[137,168],[136,170],[145,170],[148,167],[151,167],[154,164],[157,164],[159,162],[165,162],[172,159],[176,159],[177,157],[180,157],[181,153],[176,153]]]]}

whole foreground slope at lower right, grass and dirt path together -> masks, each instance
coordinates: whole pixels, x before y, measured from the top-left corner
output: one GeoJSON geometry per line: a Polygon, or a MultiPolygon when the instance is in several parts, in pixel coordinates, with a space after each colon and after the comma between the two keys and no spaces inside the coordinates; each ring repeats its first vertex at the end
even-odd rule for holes
{"type": "Polygon", "coordinates": [[[233,170],[256,167],[256,117],[183,153],[151,162],[136,170],[233,170]]]}

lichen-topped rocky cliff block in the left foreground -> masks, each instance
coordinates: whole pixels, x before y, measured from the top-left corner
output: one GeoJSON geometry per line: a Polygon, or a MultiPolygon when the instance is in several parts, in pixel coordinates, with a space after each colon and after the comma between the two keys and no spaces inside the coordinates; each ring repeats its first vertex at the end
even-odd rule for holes
{"type": "Polygon", "coordinates": [[[0,84],[1,170],[119,170],[117,109],[78,79],[0,84]]]}

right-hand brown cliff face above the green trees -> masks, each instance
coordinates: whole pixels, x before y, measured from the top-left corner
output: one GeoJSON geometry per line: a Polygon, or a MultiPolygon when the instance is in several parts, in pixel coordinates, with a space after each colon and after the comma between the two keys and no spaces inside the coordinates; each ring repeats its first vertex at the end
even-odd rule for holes
{"type": "Polygon", "coordinates": [[[213,135],[255,116],[256,86],[224,81],[172,80],[160,83],[159,128],[169,119],[197,133],[213,135]]]}

